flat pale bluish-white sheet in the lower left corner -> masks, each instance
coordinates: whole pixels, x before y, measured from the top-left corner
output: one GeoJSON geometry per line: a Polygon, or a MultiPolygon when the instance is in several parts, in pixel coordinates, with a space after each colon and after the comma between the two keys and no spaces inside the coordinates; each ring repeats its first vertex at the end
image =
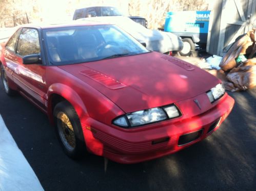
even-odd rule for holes
{"type": "Polygon", "coordinates": [[[44,190],[0,115],[0,190],[44,190]]]}

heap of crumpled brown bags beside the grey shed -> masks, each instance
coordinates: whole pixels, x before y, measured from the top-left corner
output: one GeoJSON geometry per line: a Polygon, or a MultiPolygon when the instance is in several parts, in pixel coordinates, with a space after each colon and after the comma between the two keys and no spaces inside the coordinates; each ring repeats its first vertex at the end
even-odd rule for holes
{"type": "Polygon", "coordinates": [[[256,29],[240,36],[220,62],[226,74],[226,90],[235,92],[256,86],[256,29]]]}

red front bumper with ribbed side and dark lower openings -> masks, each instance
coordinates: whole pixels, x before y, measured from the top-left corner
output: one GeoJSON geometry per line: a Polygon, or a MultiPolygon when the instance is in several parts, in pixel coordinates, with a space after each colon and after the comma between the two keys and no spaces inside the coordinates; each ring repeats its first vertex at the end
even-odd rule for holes
{"type": "Polygon", "coordinates": [[[138,163],[175,153],[203,140],[219,128],[233,105],[233,98],[225,94],[213,108],[193,117],[183,116],[131,130],[113,128],[88,118],[82,128],[91,153],[119,163],[138,163]]]}

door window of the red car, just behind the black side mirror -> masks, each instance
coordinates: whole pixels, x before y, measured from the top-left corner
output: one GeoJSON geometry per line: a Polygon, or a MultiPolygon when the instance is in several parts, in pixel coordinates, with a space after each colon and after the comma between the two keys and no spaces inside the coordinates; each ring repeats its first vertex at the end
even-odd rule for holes
{"type": "Polygon", "coordinates": [[[24,28],[19,35],[17,44],[17,54],[26,56],[30,54],[39,54],[40,44],[38,31],[36,29],[24,28]]]}

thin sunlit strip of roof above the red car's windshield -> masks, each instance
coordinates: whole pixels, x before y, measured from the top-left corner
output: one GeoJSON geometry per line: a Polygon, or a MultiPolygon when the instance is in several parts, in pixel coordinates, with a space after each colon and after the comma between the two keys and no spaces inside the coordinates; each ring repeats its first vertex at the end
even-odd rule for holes
{"type": "Polygon", "coordinates": [[[95,22],[93,20],[74,20],[72,22],[64,23],[35,23],[21,25],[23,28],[41,28],[41,29],[51,29],[51,28],[62,28],[62,27],[76,27],[76,26],[94,26],[94,25],[110,25],[109,23],[95,22]]]}

